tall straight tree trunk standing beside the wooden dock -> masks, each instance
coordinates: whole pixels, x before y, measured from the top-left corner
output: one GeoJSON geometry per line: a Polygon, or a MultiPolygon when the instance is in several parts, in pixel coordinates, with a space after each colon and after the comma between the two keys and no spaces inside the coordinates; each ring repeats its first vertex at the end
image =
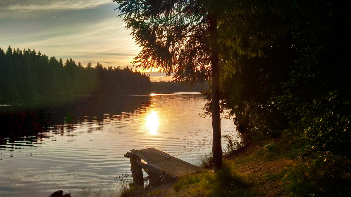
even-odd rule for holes
{"type": "Polygon", "coordinates": [[[219,116],[219,62],[217,43],[217,16],[210,14],[211,66],[212,66],[212,154],[214,172],[222,169],[222,144],[219,116]]]}

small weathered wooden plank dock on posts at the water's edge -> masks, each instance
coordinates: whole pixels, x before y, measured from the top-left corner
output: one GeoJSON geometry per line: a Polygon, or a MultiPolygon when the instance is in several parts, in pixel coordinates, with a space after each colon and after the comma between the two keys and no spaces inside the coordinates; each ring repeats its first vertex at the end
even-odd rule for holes
{"type": "Polygon", "coordinates": [[[200,167],[155,148],[131,150],[124,157],[130,159],[133,182],[136,188],[144,188],[144,181],[147,179],[150,181],[148,188],[171,178],[201,171],[200,167]],[[148,174],[145,178],[143,177],[143,169],[148,174]]]}

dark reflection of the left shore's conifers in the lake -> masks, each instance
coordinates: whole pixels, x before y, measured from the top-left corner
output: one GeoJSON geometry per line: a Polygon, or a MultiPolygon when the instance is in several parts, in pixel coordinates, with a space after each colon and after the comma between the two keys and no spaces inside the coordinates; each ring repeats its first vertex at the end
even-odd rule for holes
{"type": "MultiPolygon", "coordinates": [[[[56,125],[71,124],[77,129],[83,121],[102,122],[106,118],[126,119],[131,112],[140,114],[150,101],[149,96],[49,98],[27,102],[20,106],[0,108],[0,144],[38,140],[41,132],[60,129],[56,125]],[[42,100],[42,101],[41,101],[42,100]],[[33,135],[37,134],[37,135],[33,135]]],[[[63,127],[61,130],[63,132],[63,127]]]]}

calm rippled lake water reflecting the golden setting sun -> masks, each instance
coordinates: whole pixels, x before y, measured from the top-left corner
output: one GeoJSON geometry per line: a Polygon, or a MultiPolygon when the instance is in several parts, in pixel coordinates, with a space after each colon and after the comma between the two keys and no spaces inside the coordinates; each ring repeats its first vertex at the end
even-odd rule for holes
{"type": "MultiPolygon", "coordinates": [[[[16,133],[0,145],[0,196],[118,192],[116,177],[131,175],[123,157],[131,149],[154,147],[194,164],[211,152],[212,119],[199,116],[206,101],[198,93],[44,100],[0,106],[2,132],[16,133]]],[[[221,130],[236,136],[231,120],[221,130]]]]}

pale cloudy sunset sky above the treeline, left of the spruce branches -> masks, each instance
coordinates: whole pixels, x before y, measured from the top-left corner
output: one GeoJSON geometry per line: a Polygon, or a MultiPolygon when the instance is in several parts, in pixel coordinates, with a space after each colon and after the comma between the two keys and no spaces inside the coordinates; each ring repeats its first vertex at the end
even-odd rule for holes
{"type": "MultiPolygon", "coordinates": [[[[72,58],[83,66],[97,61],[104,67],[135,69],[141,48],[118,17],[112,0],[0,0],[0,47],[40,51],[48,57],[72,58]]],[[[169,81],[150,70],[152,81],[169,81]]]]}

